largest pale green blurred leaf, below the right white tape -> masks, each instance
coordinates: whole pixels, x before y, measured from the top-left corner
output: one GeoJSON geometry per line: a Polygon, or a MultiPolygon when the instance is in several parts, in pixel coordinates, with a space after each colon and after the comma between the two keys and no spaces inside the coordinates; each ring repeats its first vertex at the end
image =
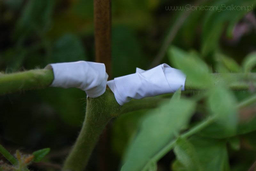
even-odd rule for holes
{"type": "Polygon", "coordinates": [[[124,156],[122,171],[146,170],[152,158],[188,124],[195,102],[185,99],[165,102],[146,115],[124,156]]]}

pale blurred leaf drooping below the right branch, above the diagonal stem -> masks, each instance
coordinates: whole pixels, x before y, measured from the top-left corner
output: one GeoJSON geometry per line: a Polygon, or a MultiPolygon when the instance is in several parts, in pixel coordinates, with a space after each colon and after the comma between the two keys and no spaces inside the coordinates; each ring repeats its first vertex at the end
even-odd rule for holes
{"type": "Polygon", "coordinates": [[[228,137],[237,133],[238,112],[234,94],[222,86],[211,90],[208,108],[216,117],[216,122],[201,131],[202,135],[212,138],[228,137]]]}

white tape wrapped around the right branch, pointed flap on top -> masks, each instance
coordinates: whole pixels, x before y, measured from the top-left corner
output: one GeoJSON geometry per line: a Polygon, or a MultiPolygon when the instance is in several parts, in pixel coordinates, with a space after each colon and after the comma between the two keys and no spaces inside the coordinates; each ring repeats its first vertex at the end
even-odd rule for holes
{"type": "Polygon", "coordinates": [[[166,63],[144,71],[108,81],[108,86],[115,94],[116,101],[122,106],[133,99],[141,99],[160,94],[173,93],[182,86],[184,90],[186,76],[166,63]]]}

